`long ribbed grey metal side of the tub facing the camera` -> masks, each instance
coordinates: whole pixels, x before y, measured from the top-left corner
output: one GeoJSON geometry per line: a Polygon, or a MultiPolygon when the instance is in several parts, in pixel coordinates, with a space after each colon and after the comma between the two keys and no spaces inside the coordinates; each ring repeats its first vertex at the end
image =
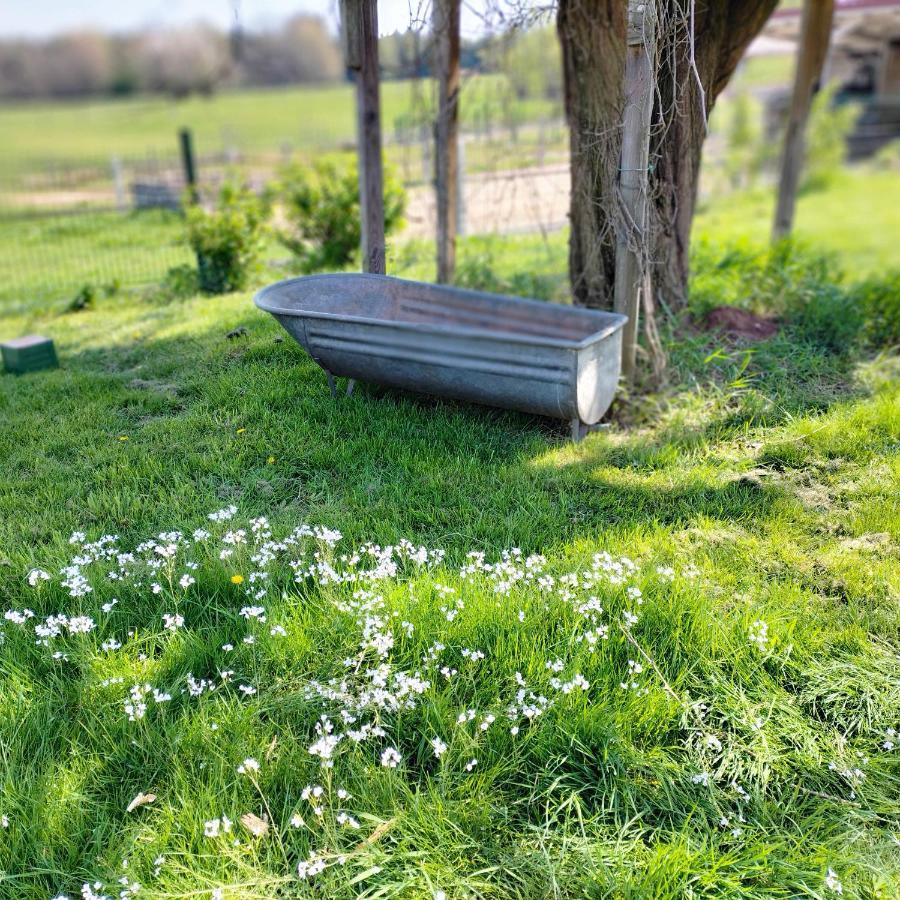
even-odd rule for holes
{"type": "Polygon", "coordinates": [[[338,377],[561,419],[578,416],[576,350],[500,335],[407,331],[391,322],[276,317],[338,377]]]}

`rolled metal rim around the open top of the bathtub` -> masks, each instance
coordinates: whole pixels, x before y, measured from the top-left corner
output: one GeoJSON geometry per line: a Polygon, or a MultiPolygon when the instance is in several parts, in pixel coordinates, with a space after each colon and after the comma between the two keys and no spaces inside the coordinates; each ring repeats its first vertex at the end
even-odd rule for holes
{"type": "Polygon", "coordinates": [[[294,278],[284,278],[276,281],[261,290],[257,291],[253,297],[254,304],[264,312],[271,313],[274,316],[291,316],[296,318],[309,319],[331,319],[341,322],[355,322],[365,325],[375,325],[379,327],[388,327],[400,329],[411,333],[441,333],[447,335],[464,336],[473,339],[491,340],[502,336],[505,341],[512,341],[518,344],[538,345],[542,347],[559,347],[566,350],[583,350],[593,344],[615,334],[628,321],[627,316],[620,313],[608,312],[600,309],[587,309],[579,306],[563,306],[562,304],[552,303],[548,300],[535,300],[531,297],[518,297],[514,294],[495,294],[490,291],[475,291],[470,288],[460,288],[452,284],[436,284],[428,281],[414,281],[410,278],[397,278],[394,275],[374,275],[367,272],[328,272],[318,275],[299,275],[294,278]],[[515,331],[506,331],[499,328],[473,328],[465,325],[442,325],[437,322],[404,322],[401,319],[387,319],[376,316],[359,316],[346,313],[330,313],[320,312],[318,310],[304,309],[301,306],[284,307],[276,305],[273,300],[278,293],[286,287],[303,282],[309,285],[314,281],[345,281],[365,279],[373,282],[392,282],[399,284],[407,284],[412,287],[427,287],[432,290],[447,290],[456,294],[464,294],[468,297],[495,297],[504,300],[510,300],[513,303],[532,306],[535,309],[546,310],[548,307],[558,307],[561,310],[574,311],[585,318],[602,319],[604,324],[596,331],[581,338],[573,340],[572,338],[563,337],[542,337],[540,335],[521,334],[515,331]]]}

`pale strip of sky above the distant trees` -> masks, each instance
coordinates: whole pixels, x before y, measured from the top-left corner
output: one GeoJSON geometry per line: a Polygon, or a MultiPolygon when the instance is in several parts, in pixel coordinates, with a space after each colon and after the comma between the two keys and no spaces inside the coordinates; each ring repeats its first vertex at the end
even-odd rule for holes
{"type": "MultiPolygon", "coordinates": [[[[338,0],[0,0],[0,36],[46,37],[84,27],[131,31],[197,21],[229,28],[235,4],[248,29],[277,25],[298,12],[320,15],[334,30],[337,27],[338,0]]],[[[378,0],[378,30],[382,34],[405,30],[413,14],[429,8],[426,4],[427,0],[378,0]]],[[[482,4],[483,0],[464,4],[464,34],[478,33],[473,9],[482,4]]]]}

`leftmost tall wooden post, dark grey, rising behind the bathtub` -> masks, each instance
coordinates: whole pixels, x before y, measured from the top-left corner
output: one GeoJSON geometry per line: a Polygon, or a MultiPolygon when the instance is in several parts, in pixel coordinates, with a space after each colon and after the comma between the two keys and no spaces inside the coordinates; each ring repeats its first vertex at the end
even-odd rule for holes
{"type": "Polygon", "coordinates": [[[356,141],[364,272],[384,275],[384,196],[376,0],[341,0],[344,56],[356,81],[356,141]]]}

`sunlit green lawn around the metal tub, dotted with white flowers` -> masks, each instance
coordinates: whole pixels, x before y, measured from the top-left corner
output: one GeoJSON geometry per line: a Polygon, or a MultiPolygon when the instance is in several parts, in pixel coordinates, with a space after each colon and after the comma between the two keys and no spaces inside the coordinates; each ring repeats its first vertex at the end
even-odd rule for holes
{"type": "MultiPolygon", "coordinates": [[[[854,278],[862,190],[800,208],[854,278]]],[[[564,236],[463,255],[557,285],[564,236]]],[[[896,357],[680,320],[573,445],[332,399],[249,294],[0,312],[62,362],[0,377],[0,898],[900,893],[896,357]]]]}

